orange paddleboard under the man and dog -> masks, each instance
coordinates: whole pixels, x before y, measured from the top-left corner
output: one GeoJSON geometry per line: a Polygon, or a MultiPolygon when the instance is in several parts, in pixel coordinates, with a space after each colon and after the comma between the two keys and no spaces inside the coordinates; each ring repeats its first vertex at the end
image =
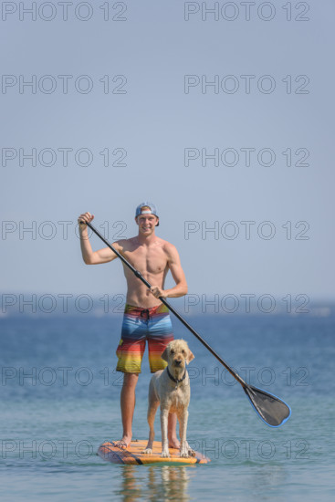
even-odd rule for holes
{"type": "Polygon", "coordinates": [[[130,465],[143,465],[143,464],[155,464],[158,462],[164,463],[178,463],[178,464],[208,464],[210,458],[195,452],[195,456],[189,456],[187,458],[181,457],[179,455],[179,450],[175,448],[169,448],[170,457],[162,458],[162,443],[160,441],[154,441],[152,447],[152,455],[142,454],[142,450],[146,447],[148,441],[144,439],[135,439],[131,441],[127,450],[122,450],[117,446],[116,441],[106,441],[99,445],[98,455],[111,462],[112,464],[130,464],[130,465]]]}

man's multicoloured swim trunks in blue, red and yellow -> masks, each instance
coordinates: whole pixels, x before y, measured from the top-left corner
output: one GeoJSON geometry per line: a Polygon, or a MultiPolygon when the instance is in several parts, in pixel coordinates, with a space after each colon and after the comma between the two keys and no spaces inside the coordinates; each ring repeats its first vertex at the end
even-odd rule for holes
{"type": "Polygon", "coordinates": [[[148,340],[149,364],[152,373],[163,370],[167,362],[162,360],[162,352],[173,340],[173,325],[169,309],[163,304],[150,309],[126,304],[121,339],[116,351],[119,358],[117,371],[141,373],[145,340],[148,340]]]}

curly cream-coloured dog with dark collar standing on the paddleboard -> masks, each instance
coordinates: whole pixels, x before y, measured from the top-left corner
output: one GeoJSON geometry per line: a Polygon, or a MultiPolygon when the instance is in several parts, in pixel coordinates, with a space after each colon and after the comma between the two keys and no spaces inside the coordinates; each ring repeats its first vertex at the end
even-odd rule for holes
{"type": "Polygon", "coordinates": [[[154,439],[154,417],[161,403],[162,457],[168,457],[169,444],[167,437],[168,415],[176,413],[179,421],[181,438],[181,456],[194,455],[186,441],[188,405],[190,403],[190,379],[186,364],[194,359],[194,354],[188,348],[186,341],[173,340],[162,353],[162,359],[167,361],[165,370],[156,371],[149,386],[148,424],[150,434],[148,444],[143,454],[152,454],[154,439]]]}

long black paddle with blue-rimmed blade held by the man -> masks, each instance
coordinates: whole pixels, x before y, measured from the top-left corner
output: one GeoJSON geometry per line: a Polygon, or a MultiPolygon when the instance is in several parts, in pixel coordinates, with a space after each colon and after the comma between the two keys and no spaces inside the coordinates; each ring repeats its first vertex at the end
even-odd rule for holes
{"type": "MultiPolygon", "coordinates": [[[[99,238],[106,244],[106,246],[110,247],[110,249],[115,253],[115,255],[119,256],[120,260],[129,268],[131,268],[132,272],[138,277],[148,288],[152,288],[151,284],[141,276],[141,273],[136,270],[136,268],[132,267],[132,265],[122,256],[120,253],[110,245],[110,243],[99,233],[99,231],[94,228],[93,225],[87,222],[80,222],[80,225],[88,225],[89,228],[99,236],[99,238]]],[[[243,390],[246,392],[246,396],[248,397],[250,403],[254,407],[258,416],[270,427],[279,427],[279,425],[284,424],[290,414],[291,410],[287,403],[281,401],[281,399],[277,398],[277,396],[270,394],[269,392],[262,391],[261,389],[257,389],[253,385],[246,383],[237,373],[234,371],[228,364],[221,359],[221,357],[216,354],[215,350],[212,349],[210,345],[188,324],[188,322],[182,318],[182,316],[175,310],[173,307],[166,301],[165,298],[159,298],[166,307],[173,312],[176,318],[178,318],[183,325],[194,334],[199,341],[202,342],[204,347],[208,349],[221,364],[225,366],[225,369],[229,371],[233,377],[239,382],[243,390]]]]}

